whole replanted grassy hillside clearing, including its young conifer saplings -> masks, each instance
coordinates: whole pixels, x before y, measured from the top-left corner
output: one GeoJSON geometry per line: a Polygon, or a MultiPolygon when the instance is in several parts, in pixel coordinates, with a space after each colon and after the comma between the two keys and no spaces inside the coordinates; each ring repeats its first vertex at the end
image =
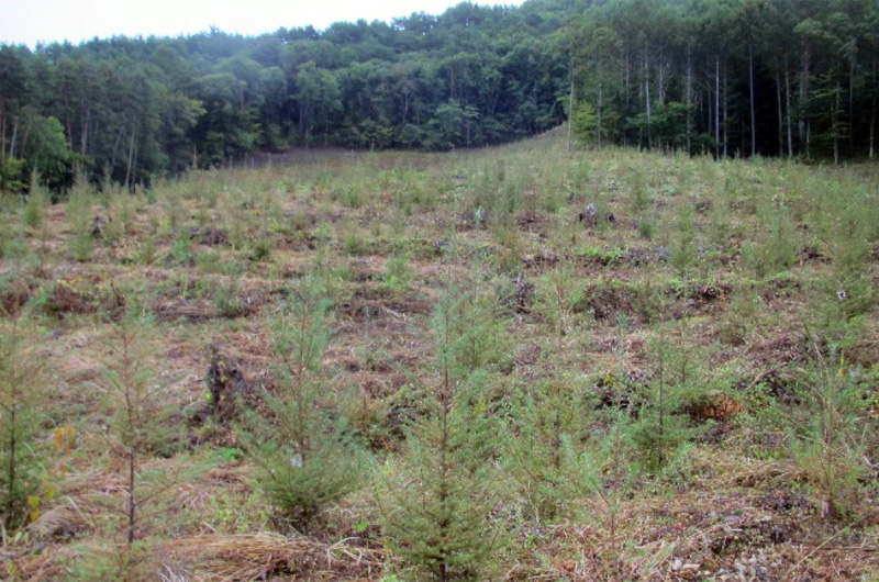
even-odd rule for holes
{"type": "Polygon", "coordinates": [[[3,362],[41,374],[0,391],[4,430],[36,417],[4,579],[872,580],[878,239],[876,166],[554,136],[5,200],[3,362]],[[307,276],[329,327],[298,369],[278,322],[307,276]],[[105,398],[132,314],[162,425],[136,435],[105,398]],[[319,486],[300,410],[358,449],[309,536],[272,503],[319,486]],[[281,457],[293,489],[266,490],[281,457]],[[445,535],[482,541],[437,562],[411,530],[445,526],[405,508],[454,491],[445,535]]]}

